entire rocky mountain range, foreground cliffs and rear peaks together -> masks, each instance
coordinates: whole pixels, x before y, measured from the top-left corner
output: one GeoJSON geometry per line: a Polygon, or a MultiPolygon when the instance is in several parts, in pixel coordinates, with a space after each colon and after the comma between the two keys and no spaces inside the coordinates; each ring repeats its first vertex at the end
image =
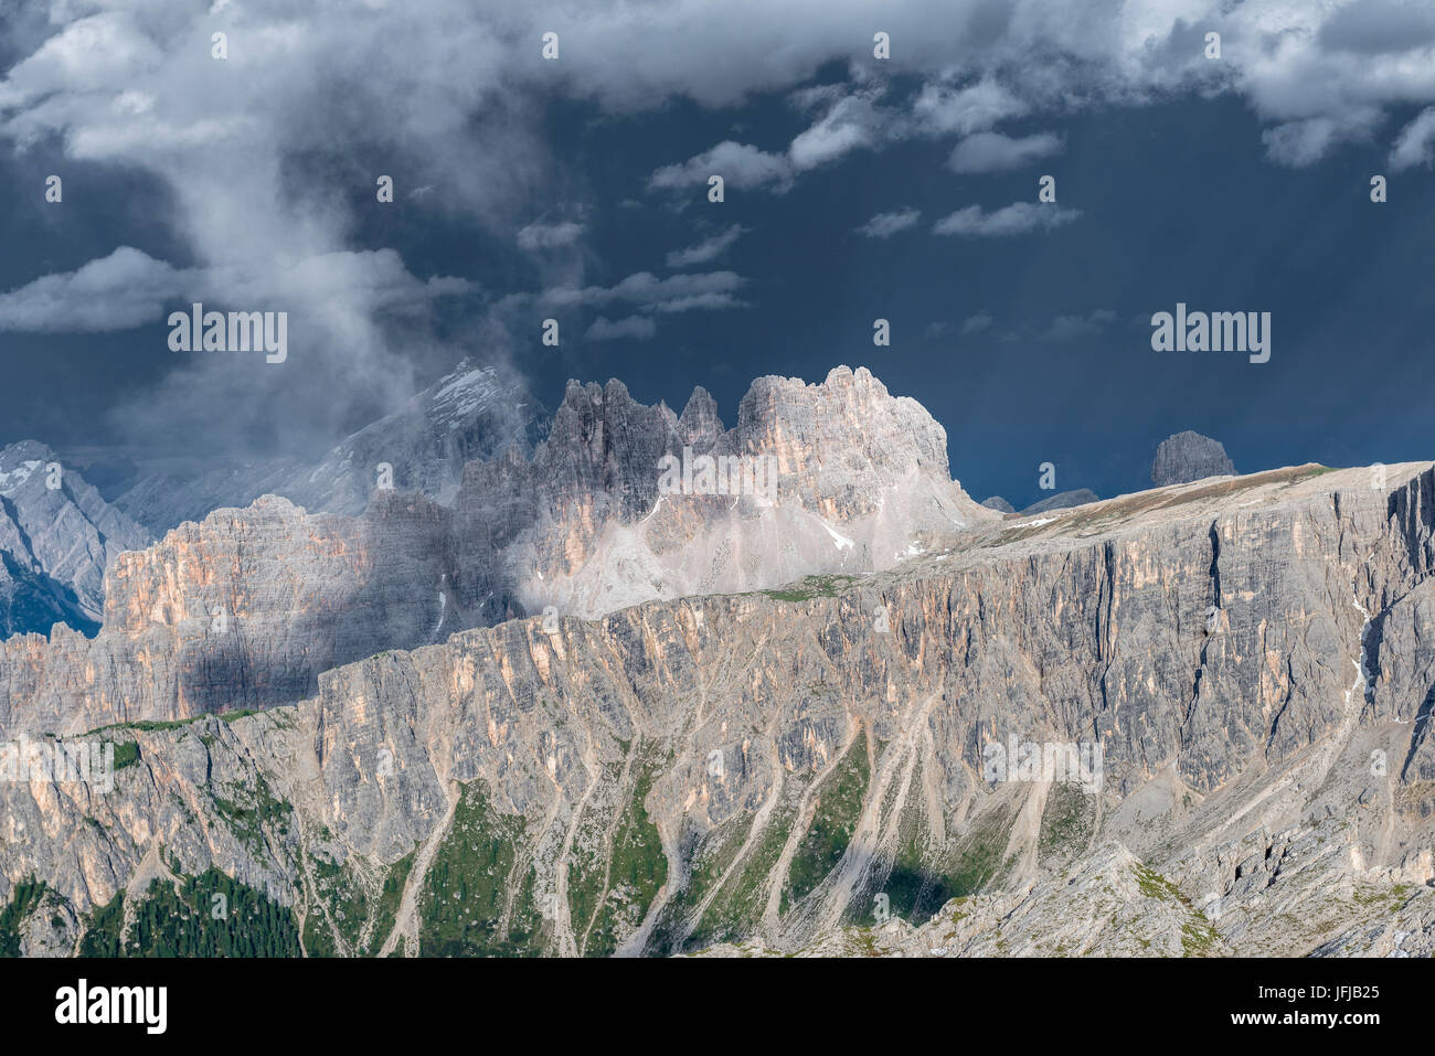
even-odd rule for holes
{"type": "Polygon", "coordinates": [[[0,782],[0,951],[1429,956],[1435,466],[1174,440],[1016,515],[865,369],[465,366],[277,494],[7,449],[0,739],[115,769],[0,782]]]}

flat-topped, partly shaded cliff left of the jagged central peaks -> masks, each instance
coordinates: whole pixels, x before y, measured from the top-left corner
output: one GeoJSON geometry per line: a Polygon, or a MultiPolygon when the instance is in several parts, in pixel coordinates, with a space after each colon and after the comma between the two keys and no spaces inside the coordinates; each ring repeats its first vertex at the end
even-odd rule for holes
{"type": "MultiPolygon", "coordinates": [[[[317,674],[436,640],[448,522],[386,492],[363,518],[286,499],[221,509],[118,555],[93,638],[56,628],[0,643],[0,732],[82,732],[290,703],[317,674]]],[[[452,591],[449,591],[452,593],[452,591]]]]}

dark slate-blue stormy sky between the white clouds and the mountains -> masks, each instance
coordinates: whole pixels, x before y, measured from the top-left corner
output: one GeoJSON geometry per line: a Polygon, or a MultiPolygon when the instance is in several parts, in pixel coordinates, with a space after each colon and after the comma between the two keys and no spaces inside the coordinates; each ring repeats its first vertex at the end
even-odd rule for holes
{"type": "MultiPolygon", "coordinates": [[[[53,30],[26,32],[43,43],[53,30]]],[[[0,60],[13,66],[30,50],[9,47],[0,60]]],[[[1368,133],[1337,138],[1299,165],[1273,159],[1264,136],[1273,122],[1251,99],[1170,90],[1068,99],[1004,118],[1004,136],[1053,133],[1060,146],[992,172],[953,171],[947,159],[961,135],[914,133],[799,168],[789,185],[730,181],[722,204],[707,201],[705,184],[650,182],[723,141],[782,155],[814,125],[812,108],[794,105],[794,93],[824,85],[851,92],[854,83],[862,88],[844,62],[828,60],[781,88],[720,103],[674,92],[634,108],[591,92],[530,92],[521,105],[489,108],[445,133],[449,148],[453,136],[474,138],[472,156],[482,161],[469,169],[441,165],[413,143],[399,149],[390,135],[370,142],[362,122],[343,132],[340,121],[329,141],[274,152],[265,187],[288,197],[290,222],[321,217],[334,248],[359,254],[364,267],[373,263],[366,251],[392,250],[406,277],[466,280],[462,293],[415,293],[418,311],[376,311],[375,331],[354,340],[379,349],[352,360],[343,334],[306,330],[298,300],[288,373],[264,374],[270,387],[258,392],[254,372],[265,367],[250,362],[175,386],[185,354],[169,352],[164,313],[188,304],[182,281],[161,291],[164,311],[146,324],[66,331],[55,313],[44,324],[11,323],[0,329],[0,442],[310,452],[469,354],[512,366],[550,407],[568,377],[618,377],[636,397],[677,410],[702,385],[729,425],[755,376],[815,382],[837,364],[867,366],[943,423],[953,475],[969,492],[1002,494],[1017,506],[1042,496],[1042,462],[1056,465],[1059,489],[1139,489],[1157,443],[1181,429],[1221,439],[1240,471],[1435,458],[1435,423],[1421,399],[1435,326],[1435,175],[1428,164],[1393,171],[1389,161],[1392,136],[1422,113],[1416,102],[1392,102],[1368,133]],[[521,142],[502,135],[509,122],[527,125],[521,142]],[[376,172],[396,179],[392,205],[375,201],[376,172]],[[990,214],[1035,204],[1043,174],[1056,178],[1055,208],[1079,211],[1069,222],[996,237],[933,231],[966,207],[990,214]],[[1389,178],[1386,204],[1370,202],[1373,174],[1389,178]],[[459,208],[476,194],[468,178],[499,188],[497,204],[459,208]],[[430,189],[415,194],[423,187],[430,189]],[[917,220],[887,238],[858,231],[877,214],[913,209],[917,220]],[[557,245],[521,234],[565,222],[581,234],[555,235],[557,245]],[[669,263],[733,225],[740,232],[710,260],[669,263]],[[729,271],[735,278],[723,280],[729,271]],[[707,277],[699,284],[726,293],[709,307],[603,293],[637,273],[707,277]],[[580,304],[542,300],[555,288],[588,293],[580,304]],[[1154,352],[1149,317],[1177,301],[1269,311],[1270,362],[1154,352]],[[547,316],[563,329],[557,350],[538,340],[547,316]],[[643,320],[634,323],[641,336],[585,337],[600,316],[643,320]],[[877,317],[891,321],[891,347],[872,344],[877,317]],[[321,343],[323,366],[317,352],[306,360],[321,343]],[[336,376],[347,380],[336,385],[336,376]]],[[[908,106],[923,83],[923,75],[894,73],[883,105],[908,106]]],[[[319,90],[310,105],[343,102],[319,90]]],[[[0,90],[0,115],[10,121],[0,129],[11,138],[24,112],[17,106],[11,99],[7,108],[0,90]]],[[[870,129],[871,119],[858,126],[870,129]]],[[[235,179],[247,178],[240,165],[235,179]]],[[[118,247],[177,270],[224,265],[215,244],[232,235],[207,232],[184,179],[119,151],[76,148],[73,125],[42,128],[0,154],[0,195],[10,204],[0,214],[0,291],[11,291],[0,297],[0,321],[6,298],[33,320],[23,310],[50,293],[37,280],[69,275],[118,247]],[[50,172],[65,178],[60,205],[43,201],[50,172]]],[[[277,224],[271,241],[284,238],[277,224]]],[[[253,253],[235,260],[258,267],[253,253]]],[[[387,283],[382,267],[375,273],[387,283]]],[[[125,287],[115,296],[125,296],[141,280],[113,281],[125,287]]],[[[228,273],[201,286],[222,294],[231,288],[224,281],[228,273]]],[[[286,307],[283,293],[280,284],[270,300],[214,307],[286,307]]],[[[55,298],[89,296],[69,283],[55,298]]]]}

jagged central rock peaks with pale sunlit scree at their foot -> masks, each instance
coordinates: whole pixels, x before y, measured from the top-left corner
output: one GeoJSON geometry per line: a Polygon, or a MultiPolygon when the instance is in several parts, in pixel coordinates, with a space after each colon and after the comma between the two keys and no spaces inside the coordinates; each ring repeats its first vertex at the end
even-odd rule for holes
{"type": "Polygon", "coordinates": [[[761,377],[730,430],[702,389],[674,416],[617,382],[571,383],[534,462],[471,463],[456,515],[469,605],[583,617],[881,571],[997,519],[950,479],[941,426],[865,367],[761,377]],[[751,478],[703,486],[703,459],[751,478]]]}

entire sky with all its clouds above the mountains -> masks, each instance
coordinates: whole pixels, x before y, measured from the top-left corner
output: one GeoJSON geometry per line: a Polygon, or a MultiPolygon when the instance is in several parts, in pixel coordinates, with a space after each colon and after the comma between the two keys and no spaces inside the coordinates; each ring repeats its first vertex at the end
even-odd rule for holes
{"type": "Polygon", "coordinates": [[[0,440],[304,453],[466,354],[729,425],[864,364],[1019,506],[1042,462],[1138,489],[1181,429],[1241,471],[1435,456],[1425,6],[769,7],[0,16],[0,440]],[[172,353],[197,297],[288,310],[290,360],[172,353]],[[1270,362],[1152,352],[1178,301],[1271,313],[1270,362]]]}

